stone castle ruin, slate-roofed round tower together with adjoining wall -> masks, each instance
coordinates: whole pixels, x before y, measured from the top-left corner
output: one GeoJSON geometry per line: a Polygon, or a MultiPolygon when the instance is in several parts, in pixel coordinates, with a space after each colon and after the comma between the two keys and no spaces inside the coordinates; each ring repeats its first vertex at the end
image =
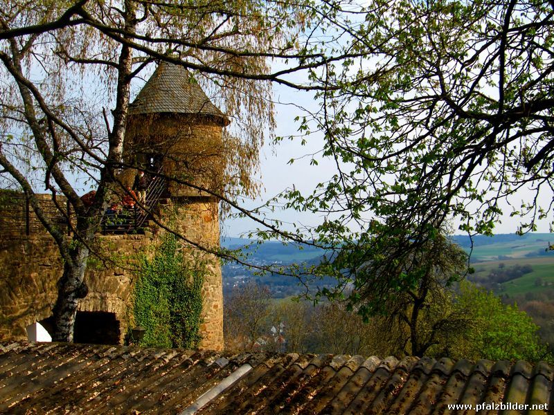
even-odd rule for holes
{"type": "MultiPolygon", "coordinates": [[[[222,188],[222,129],[229,119],[215,107],[184,68],[162,62],[129,107],[125,160],[163,177],[184,181],[218,193],[222,188]]],[[[120,179],[131,187],[136,169],[120,179]]],[[[202,349],[223,349],[223,296],[220,263],[195,244],[219,248],[219,199],[193,187],[154,178],[145,190],[145,205],[157,212],[160,223],[191,242],[191,257],[205,262],[202,349]]],[[[44,210],[67,222],[50,194],[40,196],[44,210]]],[[[64,204],[57,196],[58,204],[64,204]],[[61,202],[60,202],[61,201],[61,202]]],[[[67,212],[71,221],[72,212],[67,212]]],[[[160,241],[165,232],[142,210],[107,221],[98,234],[100,250],[114,255],[120,266],[91,264],[85,282],[87,297],[80,300],[75,321],[75,342],[120,344],[132,314],[136,277],[131,261],[160,241]],[[129,261],[125,264],[125,260],[129,261]],[[123,262],[121,262],[123,261],[123,262]],[[129,266],[126,266],[129,265],[129,266]]],[[[68,237],[71,223],[67,224],[68,237]]],[[[23,193],[0,193],[0,340],[37,340],[57,296],[62,275],[60,255],[53,238],[42,227],[23,193]],[[40,325],[37,325],[39,323],[40,325]]],[[[39,339],[40,340],[40,339],[39,339]]]]}

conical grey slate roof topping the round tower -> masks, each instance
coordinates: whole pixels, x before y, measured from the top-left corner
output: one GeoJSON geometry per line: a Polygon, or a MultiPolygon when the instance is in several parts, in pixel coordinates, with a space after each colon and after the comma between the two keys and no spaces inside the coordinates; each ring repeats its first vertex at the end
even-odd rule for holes
{"type": "Polygon", "coordinates": [[[211,103],[190,73],[182,66],[160,62],[139,95],[129,105],[129,115],[180,113],[229,119],[211,103]]]}

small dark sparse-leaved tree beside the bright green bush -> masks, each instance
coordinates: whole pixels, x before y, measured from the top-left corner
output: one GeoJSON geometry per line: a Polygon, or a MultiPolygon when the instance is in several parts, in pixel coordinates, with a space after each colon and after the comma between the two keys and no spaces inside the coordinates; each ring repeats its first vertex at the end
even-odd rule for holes
{"type": "Polygon", "coordinates": [[[454,284],[467,272],[467,255],[443,235],[412,251],[411,257],[398,265],[400,275],[389,274],[390,268],[383,264],[367,265],[353,284],[354,303],[362,303],[359,311],[363,315],[387,316],[382,319],[382,330],[386,333],[384,327],[389,328],[388,338],[397,351],[424,356],[471,324],[464,308],[452,305],[454,284]],[[397,286],[398,282],[402,285],[397,286]]]}

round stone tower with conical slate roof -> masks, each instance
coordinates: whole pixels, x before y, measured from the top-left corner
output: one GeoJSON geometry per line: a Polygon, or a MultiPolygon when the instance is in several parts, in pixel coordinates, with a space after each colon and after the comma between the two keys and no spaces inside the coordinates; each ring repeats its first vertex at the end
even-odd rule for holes
{"type": "MultiPolygon", "coordinates": [[[[222,129],[227,118],[215,107],[190,73],[161,62],[129,106],[125,159],[131,165],[159,172],[166,182],[159,205],[160,220],[184,237],[193,261],[206,264],[204,275],[205,349],[223,347],[223,294],[220,262],[197,246],[220,247],[218,216],[223,188],[222,129]]],[[[134,176],[123,174],[126,180],[134,176]]],[[[125,179],[124,179],[125,180],[125,179]]]]}

